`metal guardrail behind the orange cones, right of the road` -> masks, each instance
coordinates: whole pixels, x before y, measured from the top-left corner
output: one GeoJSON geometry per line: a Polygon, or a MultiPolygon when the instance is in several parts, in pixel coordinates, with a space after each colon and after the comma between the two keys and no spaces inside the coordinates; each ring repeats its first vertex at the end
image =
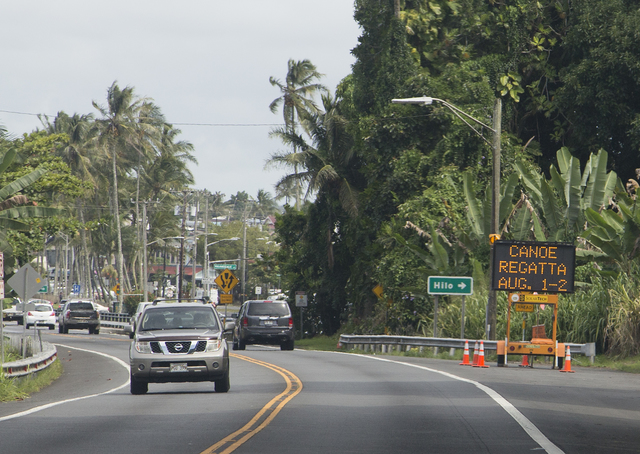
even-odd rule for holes
{"type": "MultiPolygon", "coordinates": [[[[448,337],[415,337],[415,336],[365,336],[365,335],[340,335],[340,344],[351,348],[360,348],[364,351],[380,351],[387,353],[397,348],[398,351],[405,351],[407,348],[413,347],[443,347],[443,348],[464,348],[465,341],[469,341],[471,347],[474,346],[476,339],[453,339],[448,337]]],[[[497,342],[478,339],[484,343],[485,350],[496,350],[497,342]]],[[[565,346],[571,348],[571,354],[581,354],[589,357],[591,362],[596,356],[596,344],[590,342],[588,344],[564,343],[565,346]]]]}

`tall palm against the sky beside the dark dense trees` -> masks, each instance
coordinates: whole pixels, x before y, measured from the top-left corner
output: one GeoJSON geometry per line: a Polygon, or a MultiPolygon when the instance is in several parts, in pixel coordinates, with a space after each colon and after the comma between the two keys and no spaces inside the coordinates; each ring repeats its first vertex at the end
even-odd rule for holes
{"type": "MultiPolygon", "coordinates": [[[[320,74],[309,60],[295,61],[290,59],[287,63],[287,68],[285,83],[280,82],[273,76],[269,78],[271,85],[277,86],[282,93],[282,96],[274,99],[269,104],[269,109],[275,113],[282,105],[285,130],[287,133],[295,135],[296,119],[306,113],[316,113],[318,107],[312,97],[318,92],[326,92],[327,89],[321,84],[313,83],[320,79],[323,74],[320,74]]],[[[295,143],[292,145],[293,154],[296,154],[296,145],[295,143]]],[[[297,169],[298,163],[294,162],[295,173],[297,173],[297,169]]],[[[298,210],[300,209],[300,198],[300,181],[296,180],[296,209],[298,210]]]]}

